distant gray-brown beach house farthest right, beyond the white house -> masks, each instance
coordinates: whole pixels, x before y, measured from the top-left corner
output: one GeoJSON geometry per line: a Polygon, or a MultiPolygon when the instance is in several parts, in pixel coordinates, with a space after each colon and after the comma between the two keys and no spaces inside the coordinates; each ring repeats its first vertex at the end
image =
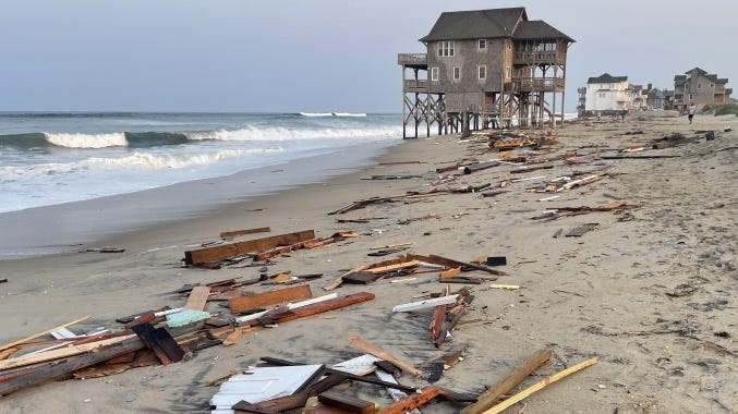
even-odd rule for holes
{"type": "Polygon", "coordinates": [[[700,68],[691,69],[683,75],[674,76],[674,100],[670,109],[683,110],[692,102],[698,109],[707,104],[726,104],[730,101],[731,88],[726,87],[727,78],[716,74],[707,74],[700,68]]]}

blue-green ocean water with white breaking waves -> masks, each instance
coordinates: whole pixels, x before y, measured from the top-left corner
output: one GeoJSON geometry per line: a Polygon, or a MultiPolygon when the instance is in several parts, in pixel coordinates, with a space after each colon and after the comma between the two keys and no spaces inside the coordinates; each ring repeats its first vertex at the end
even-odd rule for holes
{"type": "Polygon", "coordinates": [[[400,114],[0,112],[0,212],[226,176],[401,136],[400,114]]]}

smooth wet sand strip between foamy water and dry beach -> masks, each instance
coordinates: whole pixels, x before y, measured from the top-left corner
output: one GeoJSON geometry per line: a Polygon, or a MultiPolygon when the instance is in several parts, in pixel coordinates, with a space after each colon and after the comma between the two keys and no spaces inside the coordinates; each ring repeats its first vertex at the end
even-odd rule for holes
{"type": "Polygon", "coordinates": [[[114,243],[114,235],[207,218],[229,205],[361,169],[394,145],[364,143],[226,176],[1,212],[0,263],[102,247],[114,243]]]}

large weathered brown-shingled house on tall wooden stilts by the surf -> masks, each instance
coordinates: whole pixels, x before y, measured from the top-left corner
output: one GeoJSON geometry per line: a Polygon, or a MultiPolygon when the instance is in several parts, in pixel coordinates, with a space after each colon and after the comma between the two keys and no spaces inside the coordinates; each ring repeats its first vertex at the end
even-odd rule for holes
{"type": "Polygon", "coordinates": [[[403,137],[564,119],[569,45],[574,40],[525,8],[444,12],[420,39],[426,53],[399,53],[403,137]],[[410,74],[410,76],[408,76],[410,74]],[[560,113],[557,113],[560,111],[560,113]]]}

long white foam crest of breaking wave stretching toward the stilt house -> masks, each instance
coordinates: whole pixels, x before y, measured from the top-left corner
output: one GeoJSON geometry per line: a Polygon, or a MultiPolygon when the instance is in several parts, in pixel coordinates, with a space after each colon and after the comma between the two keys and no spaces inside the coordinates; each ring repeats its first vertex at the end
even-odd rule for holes
{"type": "Polygon", "coordinates": [[[286,127],[254,127],[241,130],[208,131],[187,134],[190,139],[216,141],[291,141],[291,139],[351,139],[351,138],[395,138],[402,134],[401,127],[383,129],[323,129],[292,130],[286,127]]]}

